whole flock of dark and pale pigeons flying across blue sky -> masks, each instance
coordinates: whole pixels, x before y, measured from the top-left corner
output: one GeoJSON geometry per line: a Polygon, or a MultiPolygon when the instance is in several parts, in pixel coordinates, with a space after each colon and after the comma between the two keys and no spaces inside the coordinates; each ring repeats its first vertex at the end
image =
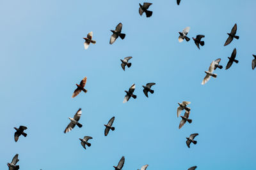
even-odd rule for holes
{"type": "MultiPolygon", "coordinates": [[[[180,4],[180,0],[177,0],[177,4],[180,4]]],[[[139,13],[140,15],[143,15],[143,13],[145,13],[146,17],[151,17],[152,16],[152,11],[149,11],[148,8],[150,7],[150,5],[152,5],[152,3],[143,3],[139,4],[140,8],[139,8],[139,13]]],[[[118,25],[116,25],[116,29],[113,31],[111,30],[111,32],[113,32],[113,34],[111,35],[109,44],[112,45],[113,43],[115,43],[116,39],[118,37],[120,37],[121,39],[125,38],[125,34],[122,33],[122,23],[119,23],[118,25]]],[[[181,43],[182,41],[184,41],[184,39],[186,39],[186,41],[189,41],[190,38],[188,37],[188,32],[189,32],[190,27],[186,27],[182,32],[179,32],[179,42],[181,43]]],[[[230,44],[232,42],[232,40],[235,39],[239,39],[239,36],[236,35],[236,31],[237,31],[237,24],[234,25],[234,27],[232,27],[232,30],[230,33],[228,34],[228,38],[227,41],[225,41],[224,46],[227,46],[228,44],[230,44]]],[[[198,47],[198,49],[200,49],[200,46],[204,46],[205,42],[201,41],[202,38],[204,38],[204,35],[197,35],[196,38],[193,38],[193,40],[195,41],[196,46],[198,47]]],[[[90,32],[87,34],[86,38],[83,38],[84,41],[84,49],[88,49],[90,43],[95,44],[96,41],[92,39],[93,38],[93,32],[90,32]]],[[[230,57],[228,57],[228,63],[225,69],[228,69],[232,66],[233,62],[238,63],[239,61],[236,60],[236,48],[234,48],[232,54],[230,57]]],[[[252,69],[255,69],[256,67],[256,55],[253,55],[254,59],[252,60],[252,69]]],[[[125,66],[127,66],[128,68],[131,67],[131,62],[129,62],[129,60],[132,59],[132,57],[125,57],[123,60],[121,60],[122,64],[121,67],[122,69],[125,71],[125,66]]],[[[217,74],[213,73],[214,70],[216,70],[217,68],[222,69],[223,66],[220,65],[220,61],[221,59],[216,59],[214,61],[211,62],[211,65],[208,69],[208,71],[205,71],[205,77],[204,80],[202,81],[202,85],[204,85],[205,83],[207,83],[207,81],[210,80],[211,77],[213,78],[217,78],[217,74]]],[[[84,92],[86,93],[87,90],[84,89],[85,85],[86,85],[86,81],[87,78],[84,77],[83,80],[81,80],[81,82],[79,84],[76,84],[77,88],[76,90],[74,90],[74,93],[72,94],[72,98],[76,97],[80,92],[84,92]]],[[[148,97],[148,92],[150,92],[150,94],[154,94],[154,90],[151,89],[151,87],[153,85],[156,85],[156,83],[147,83],[147,85],[143,85],[143,93],[145,94],[146,97],[148,97]]],[[[129,99],[132,97],[134,99],[136,99],[136,95],[133,94],[135,90],[135,84],[132,84],[132,86],[129,88],[128,91],[125,90],[125,97],[124,97],[124,101],[123,103],[126,103],[127,101],[129,101],[129,99]]],[[[192,120],[189,119],[189,114],[191,111],[191,108],[188,107],[188,104],[190,104],[189,101],[183,101],[182,103],[178,103],[179,107],[177,108],[177,117],[181,117],[182,119],[180,120],[180,124],[179,124],[179,129],[183,127],[184,124],[186,124],[186,122],[188,122],[189,124],[192,123],[192,120]],[[180,116],[180,114],[182,113],[182,111],[184,112],[184,115],[180,116]]],[[[82,110],[81,108],[79,108],[79,110],[77,110],[76,114],[74,115],[73,118],[69,118],[70,123],[67,125],[64,133],[70,132],[72,129],[74,129],[74,127],[83,127],[82,124],[79,123],[79,119],[82,115],[82,110]]],[[[115,131],[115,127],[113,127],[113,122],[115,120],[115,117],[112,117],[108,124],[105,124],[105,131],[104,131],[104,135],[108,136],[109,130],[111,129],[111,131],[115,131]]],[[[15,142],[17,142],[19,140],[19,137],[22,135],[24,137],[27,136],[27,134],[24,132],[27,127],[20,125],[19,129],[17,127],[14,127],[14,129],[16,130],[15,134],[14,134],[14,140],[15,142]]],[[[196,145],[197,141],[194,140],[194,138],[198,136],[198,133],[194,133],[191,134],[189,136],[189,138],[186,138],[186,145],[188,146],[188,148],[190,148],[191,143],[193,143],[194,145],[196,145]]],[[[86,149],[86,146],[90,147],[91,143],[88,142],[89,139],[93,139],[91,136],[84,136],[83,139],[79,138],[79,140],[81,141],[81,145],[83,146],[84,149],[86,149]]],[[[9,170],[18,170],[19,169],[19,165],[16,165],[17,162],[19,162],[18,159],[18,154],[16,154],[11,163],[8,163],[8,167],[9,170]]],[[[113,166],[115,167],[115,170],[122,170],[122,167],[124,166],[124,162],[125,162],[125,157],[123,156],[120,161],[118,162],[117,166],[113,166]]],[[[147,169],[148,165],[144,165],[141,167],[141,170],[145,170],[147,169]]],[[[196,166],[190,167],[188,170],[194,170],[196,169],[196,166]]],[[[138,169],[140,170],[140,169],[138,169]]]]}

